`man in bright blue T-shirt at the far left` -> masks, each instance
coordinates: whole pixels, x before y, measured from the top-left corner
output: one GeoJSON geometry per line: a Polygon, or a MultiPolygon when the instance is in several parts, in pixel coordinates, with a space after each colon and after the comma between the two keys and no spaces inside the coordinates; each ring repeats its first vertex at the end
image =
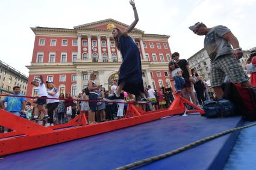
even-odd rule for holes
{"type": "MultiPolygon", "coordinates": [[[[12,96],[23,96],[23,94],[20,94],[20,87],[18,87],[18,86],[13,87],[13,91],[14,91],[14,94],[12,96]]],[[[8,111],[14,115],[20,116],[20,114],[24,113],[26,101],[27,101],[27,99],[25,97],[7,96],[2,100],[1,106],[6,111],[8,111]],[[5,106],[4,106],[5,102],[7,102],[7,108],[5,108],[5,106]]]]}

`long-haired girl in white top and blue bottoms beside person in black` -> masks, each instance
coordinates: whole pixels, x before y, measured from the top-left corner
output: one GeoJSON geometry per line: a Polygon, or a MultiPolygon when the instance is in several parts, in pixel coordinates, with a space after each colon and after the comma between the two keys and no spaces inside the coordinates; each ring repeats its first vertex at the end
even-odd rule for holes
{"type": "Polygon", "coordinates": [[[168,66],[171,73],[170,80],[174,80],[175,90],[176,92],[180,92],[185,85],[185,80],[182,77],[181,68],[174,61],[170,61],[168,66]]]}

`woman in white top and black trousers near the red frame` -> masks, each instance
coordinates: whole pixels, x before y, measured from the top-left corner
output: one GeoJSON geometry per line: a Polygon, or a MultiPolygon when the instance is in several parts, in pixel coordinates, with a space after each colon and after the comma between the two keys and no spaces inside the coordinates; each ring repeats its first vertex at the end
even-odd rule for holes
{"type": "Polygon", "coordinates": [[[55,87],[53,82],[46,81],[46,87],[48,88],[48,98],[56,98],[56,99],[48,99],[46,108],[48,109],[49,120],[46,126],[54,126],[54,110],[58,107],[58,88],[55,87]]]}

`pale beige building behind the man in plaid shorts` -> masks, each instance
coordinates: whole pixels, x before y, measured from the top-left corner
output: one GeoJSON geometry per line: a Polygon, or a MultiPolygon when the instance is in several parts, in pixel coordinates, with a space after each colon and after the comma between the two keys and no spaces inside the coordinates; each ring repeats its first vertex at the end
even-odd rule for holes
{"type": "MultiPolygon", "coordinates": [[[[251,51],[255,49],[256,47],[249,50],[243,50],[243,57],[239,60],[243,68],[245,68],[245,62],[249,58],[251,51]]],[[[208,53],[204,48],[187,59],[187,62],[189,62],[191,68],[196,68],[199,76],[202,76],[205,81],[210,80],[211,62],[208,53]]]]}

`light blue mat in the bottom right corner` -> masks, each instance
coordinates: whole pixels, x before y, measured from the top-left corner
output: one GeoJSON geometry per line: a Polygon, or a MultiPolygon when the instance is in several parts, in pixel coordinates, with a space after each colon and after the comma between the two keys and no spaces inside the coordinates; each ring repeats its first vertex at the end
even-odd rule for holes
{"type": "MultiPolygon", "coordinates": [[[[255,122],[245,122],[244,126],[255,122]]],[[[243,129],[237,138],[224,170],[256,169],[256,126],[243,129]]]]}

